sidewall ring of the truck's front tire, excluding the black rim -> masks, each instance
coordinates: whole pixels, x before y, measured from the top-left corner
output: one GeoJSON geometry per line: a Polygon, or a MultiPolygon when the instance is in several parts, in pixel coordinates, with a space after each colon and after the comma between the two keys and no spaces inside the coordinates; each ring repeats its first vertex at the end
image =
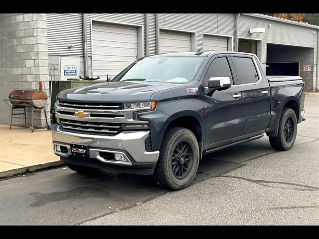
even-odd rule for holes
{"type": "MultiPolygon", "coordinates": [[[[191,132],[191,131],[190,131],[191,132]]],[[[194,135],[190,134],[189,132],[181,132],[176,138],[172,139],[172,143],[170,144],[169,150],[167,151],[165,160],[166,160],[166,172],[170,179],[170,181],[178,188],[185,188],[187,187],[194,179],[197,173],[198,164],[199,164],[199,147],[197,139],[194,135]],[[171,169],[171,157],[172,153],[176,147],[176,145],[181,141],[186,141],[189,143],[192,153],[193,153],[193,165],[191,171],[184,179],[177,179],[171,169]]]]}

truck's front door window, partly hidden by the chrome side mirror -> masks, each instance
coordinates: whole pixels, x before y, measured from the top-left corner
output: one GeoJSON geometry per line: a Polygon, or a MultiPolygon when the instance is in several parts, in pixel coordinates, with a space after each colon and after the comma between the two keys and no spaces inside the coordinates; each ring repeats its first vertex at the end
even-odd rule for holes
{"type": "Polygon", "coordinates": [[[233,85],[233,76],[230,71],[230,67],[226,57],[219,57],[215,59],[209,66],[205,79],[204,85],[208,85],[210,77],[225,77],[228,76],[231,84],[233,85]]]}

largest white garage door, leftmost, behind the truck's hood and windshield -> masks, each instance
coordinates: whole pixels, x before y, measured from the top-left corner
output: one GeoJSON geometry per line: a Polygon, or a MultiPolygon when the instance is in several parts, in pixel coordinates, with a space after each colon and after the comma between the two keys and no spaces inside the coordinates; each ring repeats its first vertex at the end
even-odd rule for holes
{"type": "Polygon", "coordinates": [[[137,27],[93,24],[93,76],[113,77],[136,61],[138,55],[137,27]]]}

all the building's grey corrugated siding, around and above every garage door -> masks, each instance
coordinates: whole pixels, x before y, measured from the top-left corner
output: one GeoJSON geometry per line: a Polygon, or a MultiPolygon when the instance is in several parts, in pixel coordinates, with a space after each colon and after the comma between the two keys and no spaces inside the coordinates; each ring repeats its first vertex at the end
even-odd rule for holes
{"type": "MultiPolygon", "coordinates": [[[[88,55],[91,54],[91,20],[120,24],[144,26],[145,54],[145,14],[144,13],[88,13],[88,55]]],[[[203,34],[232,36],[235,49],[235,14],[234,13],[160,13],[160,28],[196,32],[196,49],[203,48],[203,34]]],[[[47,13],[48,53],[49,55],[83,56],[82,14],[81,13],[47,13]],[[74,44],[69,49],[67,46],[74,44]]],[[[265,68],[267,43],[291,46],[315,47],[314,64],[317,58],[318,29],[289,24],[271,18],[241,14],[239,18],[239,37],[262,40],[262,64],[265,68]],[[272,24],[269,28],[268,25],[272,24]],[[264,27],[265,33],[249,33],[253,27],[264,27]]],[[[149,13],[149,54],[156,53],[156,14],[149,13]]],[[[314,76],[316,72],[314,72],[314,76]]]]}

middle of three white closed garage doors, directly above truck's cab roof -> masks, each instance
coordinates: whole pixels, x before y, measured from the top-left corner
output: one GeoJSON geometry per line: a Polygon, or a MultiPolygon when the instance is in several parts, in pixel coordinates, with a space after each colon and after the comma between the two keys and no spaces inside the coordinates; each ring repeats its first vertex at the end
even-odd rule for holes
{"type": "Polygon", "coordinates": [[[160,53],[190,51],[190,33],[160,30],[160,53]]]}

